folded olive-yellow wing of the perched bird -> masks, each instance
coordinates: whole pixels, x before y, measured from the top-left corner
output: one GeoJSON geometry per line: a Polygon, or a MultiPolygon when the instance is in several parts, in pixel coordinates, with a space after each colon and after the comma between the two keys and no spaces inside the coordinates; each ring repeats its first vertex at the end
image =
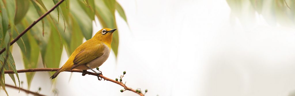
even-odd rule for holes
{"type": "Polygon", "coordinates": [[[85,48],[84,50],[80,51],[74,58],[73,63],[75,67],[86,64],[99,56],[102,56],[104,54],[104,48],[105,46],[103,44],[98,44],[95,46],[92,46],[91,48],[85,48]]]}

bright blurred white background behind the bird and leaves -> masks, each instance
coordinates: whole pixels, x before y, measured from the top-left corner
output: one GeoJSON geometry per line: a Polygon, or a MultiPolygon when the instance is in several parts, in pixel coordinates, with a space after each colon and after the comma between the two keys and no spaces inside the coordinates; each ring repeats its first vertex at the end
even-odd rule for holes
{"type": "MultiPolygon", "coordinates": [[[[230,22],[225,0],[117,1],[130,29],[116,13],[119,55],[116,63],[111,53],[100,67],[104,76],[115,79],[126,71],[126,85],[148,89],[147,96],[287,96],[294,92],[293,28],[269,26],[258,14],[247,27],[238,19],[230,22]]],[[[100,29],[94,25],[93,34],[100,29]]],[[[24,69],[16,44],[13,56],[17,69],[24,69]]],[[[60,66],[67,59],[63,51],[60,66]]],[[[81,73],[73,73],[69,81],[70,74],[62,72],[57,77],[59,96],[137,96],[81,73]]],[[[19,75],[26,88],[25,74],[19,75]]],[[[54,95],[49,77],[47,72],[36,72],[30,90],[41,87],[41,94],[54,95]]],[[[8,75],[6,83],[13,84],[8,75]]],[[[8,87],[7,91],[11,96],[26,95],[8,87]]]]}

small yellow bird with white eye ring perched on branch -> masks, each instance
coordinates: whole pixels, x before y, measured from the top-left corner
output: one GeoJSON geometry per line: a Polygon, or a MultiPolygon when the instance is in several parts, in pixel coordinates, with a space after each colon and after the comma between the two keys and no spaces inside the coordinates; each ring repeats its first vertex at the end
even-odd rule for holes
{"type": "MultiPolygon", "coordinates": [[[[108,58],[111,50],[113,32],[117,29],[102,28],[86,42],[79,45],[71,54],[65,64],[58,69],[50,78],[54,79],[60,72],[70,71],[72,69],[83,70],[82,76],[86,70],[101,66],[108,58]]],[[[99,71],[99,70],[98,70],[99,71]]],[[[97,74],[99,80],[99,74],[97,74]]],[[[101,71],[100,71],[101,72],[101,71]]]]}

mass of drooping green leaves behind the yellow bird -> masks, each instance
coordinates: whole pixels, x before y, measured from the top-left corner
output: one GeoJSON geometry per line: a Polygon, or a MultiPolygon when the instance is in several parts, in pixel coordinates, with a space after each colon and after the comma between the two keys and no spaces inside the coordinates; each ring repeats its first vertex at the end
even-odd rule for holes
{"type": "MultiPolygon", "coordinates": [[[[9,42],[13,38],[58,1],[0,0],[0,48],[9,49],[9,42]]],[[[95,16],[102,27],[117,28],[115,10],[127,22],[122,6],[115,0],[65,0],[17,41],[25,69],[37,68],[39,53],[44,67],[58,68],[63,46],[70,56],[83,43],[83,38],[89,40],[92,37],[92,22],[95,16]]],[[[114,32],[112,50],[116,57],[118,45],[119,35],[118,32],[114,32]]],[[[16,73],[10,51],[6,50],[0,57],[0,68],[4,65],[4,70],[13,70],[16,73]]],[[[0,85],[5,90],[4,70],[0,75],[0,85]]],[[[50,75],[53,73],[50,72],[50,75]]],[[[34,74],[35,72],[26,73],[28,88],[34,74]]],[[[15,83],[14,74],[9,76],[15,83]]],[[[16,76],[19,79],[17,73],[16,76]]]]}

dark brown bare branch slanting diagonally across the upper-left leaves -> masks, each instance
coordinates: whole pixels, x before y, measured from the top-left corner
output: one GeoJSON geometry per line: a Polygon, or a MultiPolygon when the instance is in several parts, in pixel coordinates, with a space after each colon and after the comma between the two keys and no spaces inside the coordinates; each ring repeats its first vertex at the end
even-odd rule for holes
{"type": "MultiPolygon", "coordinates": [[[[15,43],[17,40],[19,40],[20,37],[22,37],[22,35],[24,35],[24,33],[26,33],[28,30],[30,30],[37,22],[39,22],[41,19],[43,19],[46,15],[48,15],[50,12],[52,12],[56,7],[58,7],[58,5],[60,5],[63,1],[65,0],[60,0],[57,4],[55,4],[50,10],[48,10],[46,13],[44,13],[41,17],[39,17],[36,21],[34,21],[29,27],[27,27],[24,31],[22,31],[22,33],[20,33],[16,38],[14,38],[14,40],[12,40],[10,42],[10,45],[12,45],[13,43],[15,43]]],[[[3,48],[0,51],[0,54],[2,54],[4,51],[6,50],[6,48],[3,48]]]]}

